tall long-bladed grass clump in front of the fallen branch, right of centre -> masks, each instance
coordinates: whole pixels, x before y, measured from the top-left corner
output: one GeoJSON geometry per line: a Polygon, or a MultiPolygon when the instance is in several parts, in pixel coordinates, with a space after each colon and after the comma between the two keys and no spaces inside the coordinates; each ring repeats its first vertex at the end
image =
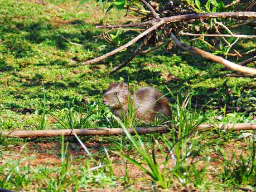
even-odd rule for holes
{"type": "MultiPolygon", "coordinates": [[[[170,92],[171,93],[171,92],[170,92]]],[[[125,155],[120,152],[115,152],[130,163],[138,166],[144,173],[146,173],[151,180],[163,189],[170,188],[175,180],[180,182],[183,186],[188,184],[191,180],[195,186],[200,186],[205,181],[205,173],[209,158],[203,158],[195,161],[194,156],[199,152],[195,151],[194,145],[199,140],[190,139],[191,135],[195,132],[196,127],[202,124],[206,120],[205,117],[200,115],[200,112],[194,111],[191,108],[191,97],[188,95],[186,99],[180,103],[178,97],[176,97],[176,104],[172,105],[174,109],[173,119],[170,121],[174,129],[170,130],[170,133],[166,136],[161,136],[160,140],[154,139],[153,145],[149,147],[144,144],[142,137],[135,133],[132,136],[118,117],[114,117],[122,126],[125,135],[132,142],[136,152],[142,157],[143,163],[139,163],[136,159],[133,159],[129,155],[125,155]],[[170,141],[170,136],[172,139],[170,141]],[[190,144],[188,144],[190,141],[190,144]],[[160,144],[161,142],[161,144],[160,144]],[[161,151],[161,154],[157,154],[157,150],[161,151]],[[166,152],[167,151],[167,152],[166,152]],[[158,160],[162,156],[164,160],[158,160]],[[189,160],[190,159],[190,160],[189,160]],[[197,169],[197,165],[203,163],[202,169],[197,169]]],[[[129,127],[130,128],[130,127],[129,127]]],[[[132,126],[132,128],[134,128],[132,126]]],[[[135,130],[134,130],[135,131],[135,130]]],[[[152,135],[153,136],[153,135],[152,135]]]]}

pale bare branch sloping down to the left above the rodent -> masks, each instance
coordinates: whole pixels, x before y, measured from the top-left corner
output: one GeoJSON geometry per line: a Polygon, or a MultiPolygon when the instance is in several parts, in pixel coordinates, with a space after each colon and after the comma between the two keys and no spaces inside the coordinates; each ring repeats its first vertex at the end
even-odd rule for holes
{"type": "Polygon", "coordinates": [[[104,60],[105,58],[109,57],[109,56],[112,56],[112,55],[115,55],[115,53],[118,53],[119,51],[122,51],[124,50],[125,48],[133,45],[133,43],[136,43],[138,40],[140,40],[142,37],[146,36],[148,33],[154,31],[155,29],[157,29],[159,26],[161,26],[163,24],[163,21],[160,21],[156,24],[154,24],[152,27],[149,27],[146,31],[142,32],[141,34],[139,34],[137,37],[133,38],[133,40],[129,41],[128,43],[126,43],[125,45],[123,46],[120,46],[118,48],[116,48],[115,50],[109,52],[109,53],[106,53],[105,55],[103,56],[100,56],[100,57],[96,57],[94,58],[93,60],[89,60],[89,61],[85,61],[83,63],[83,65],[88,65],[88,64],[91,64],[91,63],[96,63],[96,62],[99,62],[99,61],[102,61],[104,60]]]}

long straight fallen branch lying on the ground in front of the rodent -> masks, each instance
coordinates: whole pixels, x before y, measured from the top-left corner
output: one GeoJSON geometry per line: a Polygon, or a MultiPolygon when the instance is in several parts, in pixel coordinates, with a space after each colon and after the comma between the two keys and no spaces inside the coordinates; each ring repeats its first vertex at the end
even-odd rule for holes
{"type": "MultiPolygon", "coordinates": [[[[224,129],[224,130],[256,130],[256,124],[220,124],[220,125],[210,125],[202,124],[197,127],[200,131],[208,131],[211,129],[224,129]]],[[[158,126],[158,127],[137,127],[136,132],[138,134],[149,134],[153,132],[166,133],[170,132],[170,127],[168,126],[158,126]]],[[[131,134],[135,134],[133,129],[128,129],[131,134]]],[[[53,136],[71,136],[74,135],[124,135],[124,131],[121,128],[88,128],[88,129],[56,129],[56,130],[31,130],[31,131],[3,131],[1,136],[6,137],[19,137],[19,138],[32,138],[32,137],[53,137],[53,136]]]]}

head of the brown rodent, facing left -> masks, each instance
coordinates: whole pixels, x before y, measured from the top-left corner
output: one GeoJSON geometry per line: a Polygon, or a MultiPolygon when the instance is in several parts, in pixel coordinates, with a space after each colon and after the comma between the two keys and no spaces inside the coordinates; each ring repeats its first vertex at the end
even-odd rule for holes
{"type": "Polygon", "coordinates": [[[110,108],[121,108],[127,104],[128,85],[122,83],[110,83],[110,87],[103,95],[103,104],[110,108]]]}

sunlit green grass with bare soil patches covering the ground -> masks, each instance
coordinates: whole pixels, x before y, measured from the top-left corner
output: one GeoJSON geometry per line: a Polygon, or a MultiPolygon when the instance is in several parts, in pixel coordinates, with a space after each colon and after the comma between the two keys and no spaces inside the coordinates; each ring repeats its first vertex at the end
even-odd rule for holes
{"type": "MultiPolygon", "coordinates": [[[[108,72],[128,57],[127,52],[81,65],[114,46],[96,37],[102,31],[94,26],[105,22],[98,4],[88,2],[77,8],[78,3],[0,0],[0,130],[133,127],[134,111],[119,122],[102,103],[102,91],[110,82],[129,80],[131,90],[153,86],[167,94],[177,132],[62,140],[0,135],[0,188],[255,190],[255,144],[252,136],[240,137],[242,132],[255,135],[255,131],[194,131],[203,121],[256,122],[255,80],[224,77],[231,71],[181,51],[175,54],[175,48],[139,55],[112,76],[108,72]],[[61,36],[83,46],[71,45],[61,36]],[[163,73],[180,80],[166,81],[163,73]],[[224,103],[248,107],[249,112],[229,111],[224,103]],[[196,104],[222,107],[202,110],[196,104]]],[[[125,14],[112,9],[108,22],[124,23],[134,17],[125,14]]],[[[243,30],[253,33],[249,27],[243,30]]],[[[235,48],[244,52],[255,45],[255,40],[243,40],[235,48]]]]}

